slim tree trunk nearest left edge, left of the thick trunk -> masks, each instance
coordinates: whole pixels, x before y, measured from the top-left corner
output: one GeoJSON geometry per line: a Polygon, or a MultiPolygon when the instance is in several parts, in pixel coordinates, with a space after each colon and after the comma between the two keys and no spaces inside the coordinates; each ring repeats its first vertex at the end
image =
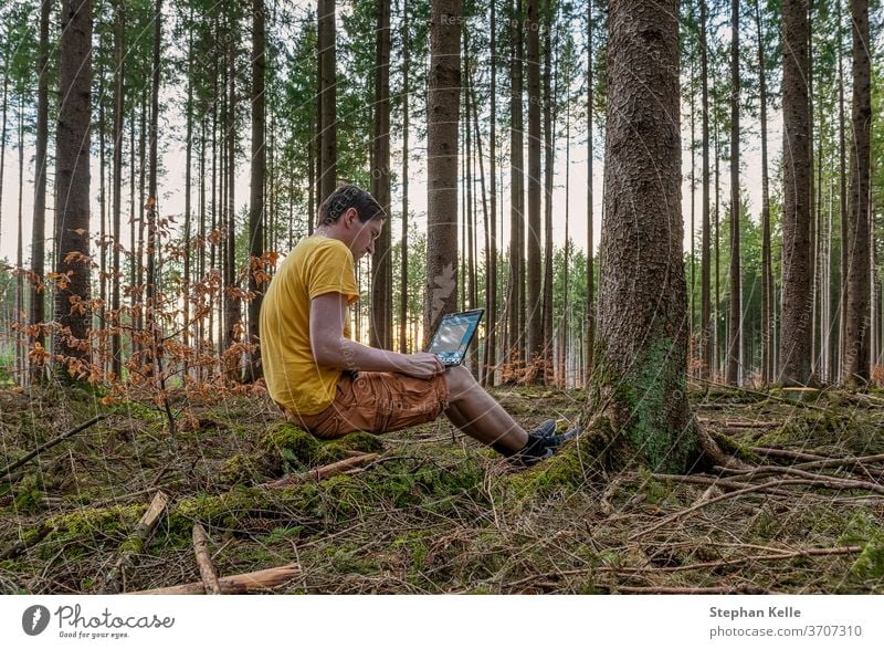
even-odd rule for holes
{"type": "MultiPolygon", "coordinates": [[[[43,281],[46,255],[46,155],[49,144],[49,20],[52,0],[40,3],[40,61],[38,62],[36,91],[36,175],[34,177],[34,224],[31,234],[31,272],[33,280],[43,281]]],[[[31,325],[42,325],[45,321],[44,294],[38,284],[31,283],[31,325]]],[[[30,341],[32,346],[46,346],[45,334],[38,328],[30,341]]],[[[41,381],[44,377],[42,363],[31,365],[31,381],[41,381]]]]}

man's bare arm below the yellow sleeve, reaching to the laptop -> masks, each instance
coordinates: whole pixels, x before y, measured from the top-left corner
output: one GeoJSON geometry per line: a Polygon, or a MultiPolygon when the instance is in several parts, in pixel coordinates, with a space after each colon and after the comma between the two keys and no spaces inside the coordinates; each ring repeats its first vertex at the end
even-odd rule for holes
{"type": "Polygon", "coordinates": [[[347,299],[325,293],[311,300],[311,347],[316,363],[335,369],[400,371],[431,378],[445,370],[433,354],[397,354],[375,349],[344,337],[347,299]]]}

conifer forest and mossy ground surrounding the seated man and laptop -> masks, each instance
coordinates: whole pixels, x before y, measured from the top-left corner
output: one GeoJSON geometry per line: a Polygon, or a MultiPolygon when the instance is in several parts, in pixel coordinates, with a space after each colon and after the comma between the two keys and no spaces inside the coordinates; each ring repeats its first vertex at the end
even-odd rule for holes
{"type": "Polygon", "coordinates": [[[286,592],[880,592],[878,2],[0,11],[4,592],[180,583],[203,525],[286,592]],[[340,181],[355,335],[484,307],[476,378],[587,435],[276,421],[261,296],[340,181]]]}

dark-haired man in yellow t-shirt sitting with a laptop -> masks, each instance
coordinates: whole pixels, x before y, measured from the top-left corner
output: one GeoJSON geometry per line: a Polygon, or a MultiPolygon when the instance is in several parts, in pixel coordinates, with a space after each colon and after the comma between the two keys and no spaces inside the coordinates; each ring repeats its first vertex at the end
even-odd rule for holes
{"type": "Polygon", "coordinates": [[[354,262],[375,250],[387,214],[369,192],[339,187],[316,232],[273,278],[261,308],[261,358],[271,397],[320,439],[400,430],[441,414],[470,437],[523,464],[555,452],[555,421],[526,432],[464,367],[433,354],[397,354],[350,338],[359,297],[354,262]]]}

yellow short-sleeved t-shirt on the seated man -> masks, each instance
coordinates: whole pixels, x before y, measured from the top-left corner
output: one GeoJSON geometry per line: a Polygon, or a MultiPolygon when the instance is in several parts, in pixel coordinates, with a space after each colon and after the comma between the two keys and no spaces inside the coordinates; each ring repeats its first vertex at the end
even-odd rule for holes
{"type": "MultiPolygon", "coordinates": [[[[270,396],[298,415],[316,415],[335,398],[341,370],[320,367],[311,347],[311,300],[340,293],[359,299],[352,253],[337,239],[302,239],[274,275],[261,305],[261,362],[270,396]]],[[[349,318],[344,336],[350,337],[349,318]]]]}

